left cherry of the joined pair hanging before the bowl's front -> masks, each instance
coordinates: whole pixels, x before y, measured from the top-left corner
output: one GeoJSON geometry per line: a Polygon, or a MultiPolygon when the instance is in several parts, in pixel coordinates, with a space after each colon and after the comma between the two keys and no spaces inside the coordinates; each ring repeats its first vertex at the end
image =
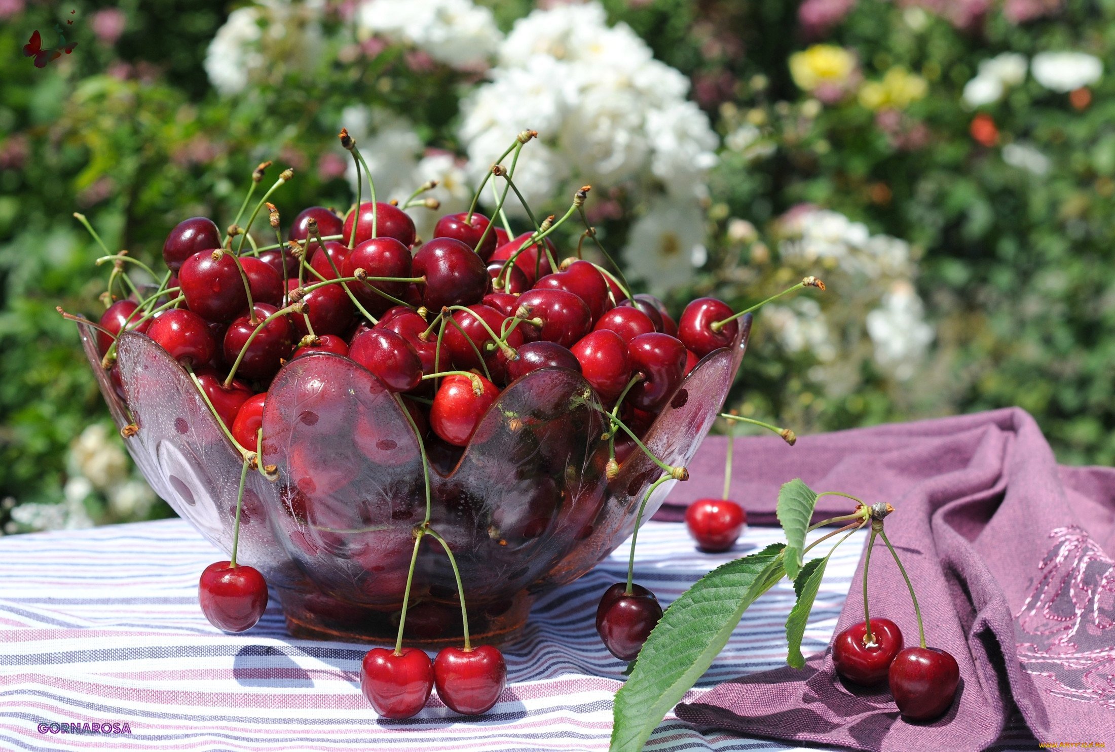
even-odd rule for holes
{"type": "Polygon", "coordinates": [[[434,690],[434,664],[425,651],[404,647],[396,655],[374,647],[360,663],[360,690],[377,713],[408,719],[420,711],[434,690]]]}

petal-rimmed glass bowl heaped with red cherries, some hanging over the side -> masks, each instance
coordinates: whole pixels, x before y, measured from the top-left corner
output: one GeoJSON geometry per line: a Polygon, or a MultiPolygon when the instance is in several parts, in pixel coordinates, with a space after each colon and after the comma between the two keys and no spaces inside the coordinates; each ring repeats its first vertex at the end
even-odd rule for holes
{"type": "MultiPolygon", "coordinates": [[[[409,647],[464,642],[442,673],[472,661],[497,674],[502,658],[471,641],[513,634],[539,594],[590,570],[688,477],[752,319],[699,299],[676,321],[631,290],[586,221],[560,251],[553,233],[584,219],[588,187],[517,235],[474,203],[421,241],[409,204],[374,195],[343,214],[308,207],[284,232],[266,199],[291,178],[243,226],[244,207],[224,233],[183,219],[164,270],[106,248],[85,352],[147,481],[230,553],[200,583],[210,621],[250,628],[270,587],[293,635],[395,644],[365,668],[418,676],[388,694],[414,704],[425,687],[425,702],[409,647]],[[136,270],[154,283],[133,283],[136,270]]],[[[500,165],[487,179],[504,197],[513,186],[500,165]]]]}

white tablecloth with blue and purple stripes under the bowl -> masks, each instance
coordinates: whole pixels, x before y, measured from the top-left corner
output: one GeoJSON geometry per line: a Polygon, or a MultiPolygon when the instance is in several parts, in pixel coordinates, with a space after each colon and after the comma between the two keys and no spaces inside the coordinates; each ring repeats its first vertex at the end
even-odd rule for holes
{"type": "MultiPolygon", "coordinates": [[[[648,523],[636,579],[665,605],[710,568],[778,539],[778,529],[750,528],[735,551],[707,555],[695,550],[685,526],[648,523]]],[[[825,648],[862,544],[862,536],[850,540],[830,563],[806,654],[825,648]]],[[[624,664],[603,648],[593,617],[600,594],[626,576],[626,551],[535,605],[523,635],[503,647],[508,687],[489,713],[463,720],[435,694],[416,717],[385,721],[360,694],[366,647],[291,638],[274,599],[249,633],[210,626],[197,606],[197,577],[222,556],[182,520],[2,538],[0,748],[607,750],[624,664]],[[127,723],[130,733],[50,731],[75,722],[119,724],[122,732],[127,723]]],[[[793,603],[787,583],[763,596],[689,699],[782,665],[793,603]]],[[[997,749],[1034,746],[1015,724],[997,749]]],[[[794,748],[701,734],[669,716],[647,749],[794,748]]]]}

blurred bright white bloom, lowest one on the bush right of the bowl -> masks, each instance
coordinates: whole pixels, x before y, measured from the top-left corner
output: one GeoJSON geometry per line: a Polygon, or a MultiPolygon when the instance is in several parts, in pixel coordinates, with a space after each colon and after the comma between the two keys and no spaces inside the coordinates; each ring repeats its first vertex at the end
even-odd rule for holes
{"type": "Polygon", "coordinates": [[[909,379],[933,341],[925,323],[925,306],[909,282],[898,282],[883,295],[882,304],[866,318],[867,334],[875,346],[875,362],[909,379]]]}

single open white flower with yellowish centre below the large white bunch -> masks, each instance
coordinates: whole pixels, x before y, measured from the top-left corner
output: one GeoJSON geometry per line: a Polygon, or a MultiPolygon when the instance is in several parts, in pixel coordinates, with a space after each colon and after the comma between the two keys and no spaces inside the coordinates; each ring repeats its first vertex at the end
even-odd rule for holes
{"type": "Polygon", "coordinates": [[[660,294],[692,280],[705,263],[705,213],[694,201],[659,196],[631,225],[623,260],[628,275],[660,294]]]}

